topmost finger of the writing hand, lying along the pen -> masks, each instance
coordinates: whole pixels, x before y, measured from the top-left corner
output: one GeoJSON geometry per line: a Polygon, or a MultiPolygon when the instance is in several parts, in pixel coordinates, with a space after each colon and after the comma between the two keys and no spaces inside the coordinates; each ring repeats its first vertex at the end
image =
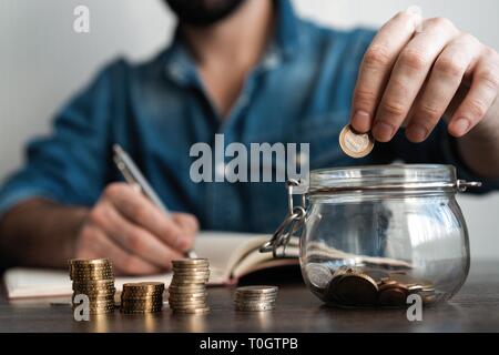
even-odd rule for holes
{"type": "Polygon", "coordinates": [[[144,195],[126,184],[111,184],[104,195],[120,213],[133,223],[157,236],[173,248],[185,251],[189,241],[183,231],[144,195]]]}

